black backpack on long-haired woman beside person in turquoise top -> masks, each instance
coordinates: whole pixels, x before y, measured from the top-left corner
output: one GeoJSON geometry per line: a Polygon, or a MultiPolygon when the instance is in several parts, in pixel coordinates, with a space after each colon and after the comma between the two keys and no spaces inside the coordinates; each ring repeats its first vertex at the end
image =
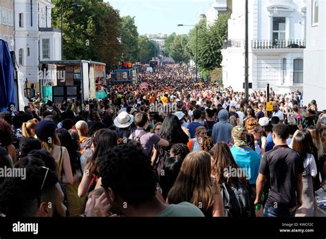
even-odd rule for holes
{"type": "Polygon", "coordinates": [[[221,194],[226,216],[250,217],[249,192],[239,180],[235,180],[232,185],[224,181],[221,185],[221,194]]]}

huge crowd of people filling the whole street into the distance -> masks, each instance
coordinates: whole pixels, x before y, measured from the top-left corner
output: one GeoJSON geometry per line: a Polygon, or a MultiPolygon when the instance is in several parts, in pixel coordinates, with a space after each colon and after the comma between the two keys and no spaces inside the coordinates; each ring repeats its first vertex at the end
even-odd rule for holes
{"type": "Polygon", "coordinates": [[[183,65],[143,67],[138,80],[0,113],[0,169],[26,170],[0,177],[0,214],[316,216],[326,111],[315,100],[272,88],[245,98],[183,65]]]}

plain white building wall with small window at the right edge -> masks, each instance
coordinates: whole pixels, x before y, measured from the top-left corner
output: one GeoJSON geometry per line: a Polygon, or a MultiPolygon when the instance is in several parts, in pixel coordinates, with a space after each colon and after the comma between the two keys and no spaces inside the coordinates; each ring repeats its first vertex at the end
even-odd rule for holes
{"type": "Polygon", "coordinates": [[[307,48],[303,53],[303,103],[326,109],[326,1],[307,0],[307,48]]]}

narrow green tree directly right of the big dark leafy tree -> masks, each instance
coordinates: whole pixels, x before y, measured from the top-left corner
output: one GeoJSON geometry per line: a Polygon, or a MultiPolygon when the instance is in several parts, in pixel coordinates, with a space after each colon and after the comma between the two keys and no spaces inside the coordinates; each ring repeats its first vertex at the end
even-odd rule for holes
{"type": "Polygon", "coordinates": [[[124,47],[124,59],[136,62],[138,60],[138,31],[135,17],[123,16],[120,23],[121,43],[124,47]]]}

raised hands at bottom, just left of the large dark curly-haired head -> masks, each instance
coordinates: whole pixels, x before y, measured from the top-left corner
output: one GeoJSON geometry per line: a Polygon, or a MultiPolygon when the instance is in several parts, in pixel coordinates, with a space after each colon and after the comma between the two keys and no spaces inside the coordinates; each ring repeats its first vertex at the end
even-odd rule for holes
{"type": "Polygon", "coordinates": [[[92,195],[88,199],[85,208],[85,215],[91,216],[107,216],[107,211],[110,209],[111,205],[107,201],[107,196],[103,193],[99,198],[92,195]]]}

